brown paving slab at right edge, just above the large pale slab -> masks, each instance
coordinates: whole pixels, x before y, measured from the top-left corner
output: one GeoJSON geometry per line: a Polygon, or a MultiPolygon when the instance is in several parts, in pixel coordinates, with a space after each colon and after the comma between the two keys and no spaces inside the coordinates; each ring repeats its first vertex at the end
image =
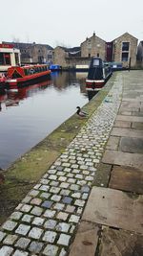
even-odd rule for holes
{"type": "Polygon", "coordinates": [[[143,194],[143,172],[129,167],[114,166],[109,187],[143,194]]]}

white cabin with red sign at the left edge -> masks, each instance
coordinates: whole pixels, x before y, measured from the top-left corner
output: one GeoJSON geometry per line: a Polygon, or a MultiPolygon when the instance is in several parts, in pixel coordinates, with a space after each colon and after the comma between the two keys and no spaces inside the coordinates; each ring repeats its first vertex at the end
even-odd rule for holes
{"type": "Polygon", "coordinates": [[[0,44],[0,71],[7,71],[10,66],[20,64],[20,51],[12,44],[0,44]]]}

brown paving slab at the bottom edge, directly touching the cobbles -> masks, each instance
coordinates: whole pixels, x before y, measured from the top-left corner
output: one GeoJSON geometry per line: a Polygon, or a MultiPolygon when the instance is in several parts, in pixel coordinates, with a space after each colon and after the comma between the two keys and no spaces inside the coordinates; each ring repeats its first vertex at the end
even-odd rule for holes
{"type": "Polygon", "coordinates": [[[96,224],[82,221],[77,230],[69,256],[94,256],[98,243],[98,232],[99,228],[96,224]]]}

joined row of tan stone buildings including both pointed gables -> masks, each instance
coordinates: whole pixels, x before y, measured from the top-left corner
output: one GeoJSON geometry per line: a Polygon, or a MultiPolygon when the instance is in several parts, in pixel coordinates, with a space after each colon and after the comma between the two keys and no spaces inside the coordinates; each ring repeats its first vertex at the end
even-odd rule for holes
{"type": "Polygon", "coordinates": [[[63,67],[89,64],[93,56],[105,61],[122,62],[123,67],[136,64],[137,38],[129,33],[106,42],[95,33],[86,38],[80,47],[65,48],[57,46],[53,50],[53,62],[63,67]]]}

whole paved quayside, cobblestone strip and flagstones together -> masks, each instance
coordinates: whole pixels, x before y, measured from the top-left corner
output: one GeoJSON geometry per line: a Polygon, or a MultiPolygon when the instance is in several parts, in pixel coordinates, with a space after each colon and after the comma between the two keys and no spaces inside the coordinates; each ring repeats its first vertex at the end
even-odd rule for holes
{"type": "Polygon", "coordinates": [[[142,81],[141,71],[116,75],[103,103],[2,225],[0,256],[143,255],[142,81]]]}

